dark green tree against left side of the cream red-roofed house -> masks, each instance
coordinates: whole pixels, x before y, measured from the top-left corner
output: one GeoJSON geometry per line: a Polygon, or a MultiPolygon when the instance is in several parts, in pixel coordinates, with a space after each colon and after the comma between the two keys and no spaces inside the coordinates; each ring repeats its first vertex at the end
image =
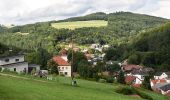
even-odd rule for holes
{"type": "Polygon", "coordinates": [[[58,65],[53,60],[48,61],[47,69],[50,71],[50,74],[57,74],[58,75],[58,65]]]}

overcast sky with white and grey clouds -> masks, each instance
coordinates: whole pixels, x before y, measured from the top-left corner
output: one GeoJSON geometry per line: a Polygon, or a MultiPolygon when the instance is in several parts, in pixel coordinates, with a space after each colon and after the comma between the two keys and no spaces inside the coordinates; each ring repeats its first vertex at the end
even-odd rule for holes
{"type": "Polygon", "coordinates": [[[170,0],[0,0],[0,24],[27,24],[116,11],[170,19],[170,0]]]}

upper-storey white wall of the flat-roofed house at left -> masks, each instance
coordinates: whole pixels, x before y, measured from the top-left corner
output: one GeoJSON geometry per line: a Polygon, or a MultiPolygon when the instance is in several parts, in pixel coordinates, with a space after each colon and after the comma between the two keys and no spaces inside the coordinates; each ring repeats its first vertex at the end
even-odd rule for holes
{"type": "Polygon", "coordinates": [[[12,63],[18,63],[18,62],[24,62],[24,55],[5,57],[5,58],[0,59],[0,65],[12,64],[12,63]],[[9,59],[9,61],[6,62],[5,61],[6,59],[9,59]],[[16,59],[19,59],[19,61],[16,61],[16,59]]]}

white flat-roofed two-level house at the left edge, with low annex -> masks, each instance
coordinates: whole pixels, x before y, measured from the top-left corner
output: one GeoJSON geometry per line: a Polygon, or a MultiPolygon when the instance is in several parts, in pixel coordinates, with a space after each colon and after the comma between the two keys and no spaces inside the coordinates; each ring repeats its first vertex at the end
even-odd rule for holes
{"type": "Polygon", "coordinates": [[[38,65],[29,65],[28,62],[25,61],[24,55],[15,55],[0,58],[0,66],[3,70],[9,69],[10,71],[18,73],[28,73],[33,67],[36,69],[36,71],[40,70],[40,66],[38,65]]]}

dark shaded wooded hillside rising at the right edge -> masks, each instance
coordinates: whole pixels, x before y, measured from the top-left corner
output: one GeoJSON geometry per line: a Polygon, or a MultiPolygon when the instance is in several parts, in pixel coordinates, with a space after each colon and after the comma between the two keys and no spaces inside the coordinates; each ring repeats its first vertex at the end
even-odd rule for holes
{"type": "Polygon", "coordinates": [[[141,33],[132,41],[130,51],[130,63],[170,70],[170,23],[141,33]]]}

